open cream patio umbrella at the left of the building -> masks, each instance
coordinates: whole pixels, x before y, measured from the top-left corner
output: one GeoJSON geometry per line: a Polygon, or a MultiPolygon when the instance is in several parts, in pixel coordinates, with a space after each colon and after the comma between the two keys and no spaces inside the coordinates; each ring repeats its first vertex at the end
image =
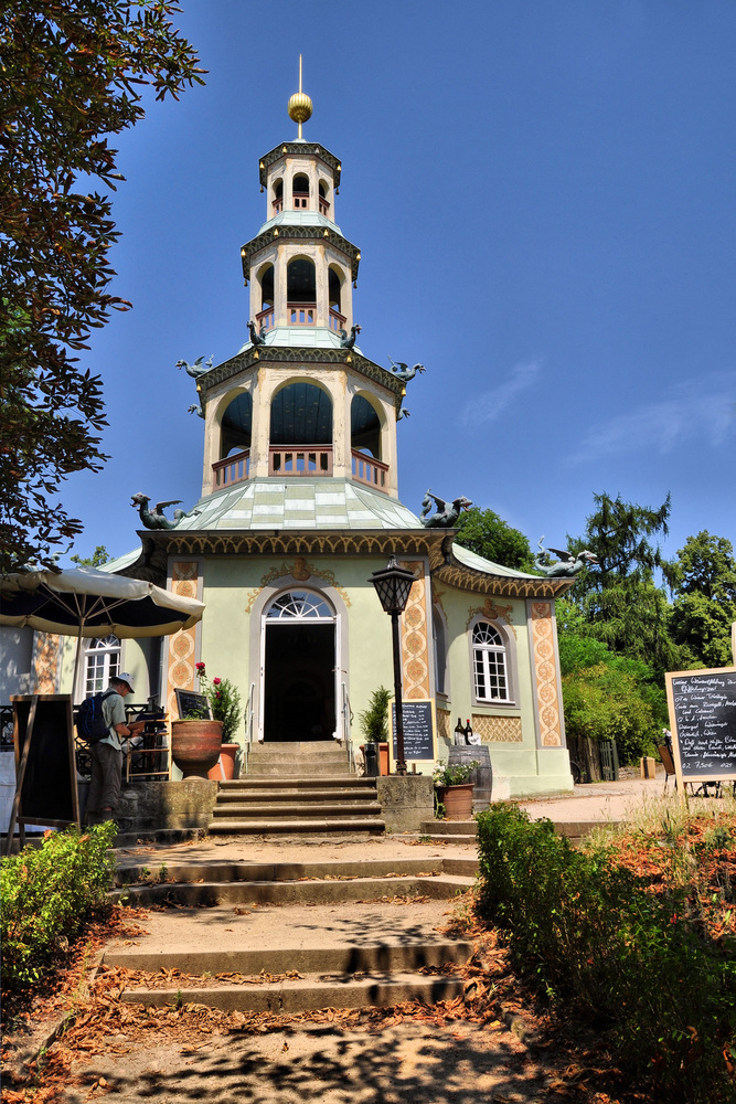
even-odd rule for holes
{"type": "Polygon", "coordinates": [[[204,603],[164,591],[141,578],[95,567],[18,571],[0,575],[0,625],[76,636],[76,687],[82,637],[169,636],[191,628],[204,603]]]}

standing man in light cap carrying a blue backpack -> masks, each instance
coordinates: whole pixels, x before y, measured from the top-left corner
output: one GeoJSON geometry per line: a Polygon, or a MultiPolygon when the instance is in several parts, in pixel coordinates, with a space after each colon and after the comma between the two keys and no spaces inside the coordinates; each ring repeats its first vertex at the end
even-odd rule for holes
{"type": "Polygon", "coordinates": [[[85,819],[88,825],[102,820],[113,820],[114,813],[120,799],[120,779],[122,773],[122,746],[120,736],[132,736],[141,732],[146,722],[128,724],[122,701],[132,693],[134,677],[122,671],[110,679],[109,689],[103,698],[103,716],[107,723],[108,735],[89,745],[92,757],[92,782],[87,797],[85,819]]]}

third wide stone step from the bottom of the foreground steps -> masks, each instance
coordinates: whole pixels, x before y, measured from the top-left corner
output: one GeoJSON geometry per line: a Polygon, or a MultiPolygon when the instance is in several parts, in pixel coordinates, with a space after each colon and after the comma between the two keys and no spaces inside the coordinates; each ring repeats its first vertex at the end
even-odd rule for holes
{"type": "Polygon", "coordinates": [[[111,900],[138,906],[163,904],[190,909],[224,904],[329,904],[370,901],[383,896],[428,896],[449,900],[473,885],[462,874],[431,874],[419,878],[352,878],[345,881],[247,881],[247,882],[156,882],[114,890],[111,900]]]}

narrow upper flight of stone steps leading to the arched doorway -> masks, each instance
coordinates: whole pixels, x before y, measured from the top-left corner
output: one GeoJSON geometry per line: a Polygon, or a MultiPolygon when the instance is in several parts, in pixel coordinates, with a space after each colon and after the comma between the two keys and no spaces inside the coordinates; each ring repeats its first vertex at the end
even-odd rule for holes
{"type": "Polygon", "coordinates": [[[220,784],[210,834],[380,835],[375,782],[333,740],[253,744],[247,774],[220,784]]]}

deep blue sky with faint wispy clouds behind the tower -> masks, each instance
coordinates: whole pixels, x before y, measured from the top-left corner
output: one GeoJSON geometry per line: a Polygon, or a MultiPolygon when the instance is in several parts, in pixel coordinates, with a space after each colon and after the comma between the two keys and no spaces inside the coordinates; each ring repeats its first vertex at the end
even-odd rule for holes
{"type": "Polygon", "coordinates": [[[258,158],[296,136],[342,161],[363,352],[426,365],[398,426],[401,498],[491,507],[535,544],[593,495],[659,506],[674,554],[736,543],[736,4],[680,0],[183,0],[206,87],[120,137],[115,294],[95,335],[111,460],[74,476],[75,552],[137,544],[130,496],[202,481],[180,358],[247,338],[239,247],[258,158]]]}

